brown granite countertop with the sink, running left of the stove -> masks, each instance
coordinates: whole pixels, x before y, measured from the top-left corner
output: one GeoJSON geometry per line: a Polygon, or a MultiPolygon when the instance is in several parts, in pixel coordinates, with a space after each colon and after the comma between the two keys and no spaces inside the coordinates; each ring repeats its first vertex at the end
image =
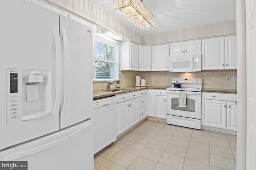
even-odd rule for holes
{"type": "Polygon", "coordinates": [[[102,90],[93,90],[93,99],[95,100],[95,99],[99,99],[99,98],[115,96],[116,94],[122,94],[122,93],[127,93],[127,92],[134,92],[134,91],[143,90],[143,89],[166,90],[166,88],[168,88],[168,87],[167,86],[147,86],[147,87],[134,87],[133,86],[133,87],[122,87],[122,88],[129,88],[130,90],[124,90],[124,91],[120,91],[120,92],[107,92],[107,91],[102,91],[102,90]]]}

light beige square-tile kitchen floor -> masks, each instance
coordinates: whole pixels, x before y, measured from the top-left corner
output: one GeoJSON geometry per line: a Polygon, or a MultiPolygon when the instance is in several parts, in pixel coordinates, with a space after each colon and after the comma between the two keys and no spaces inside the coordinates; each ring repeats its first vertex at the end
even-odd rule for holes
{"type": "Polygon", "coordinates": [[[236,170],[236,136],[146,120],[95,154],[94,170],[236,170]]]}

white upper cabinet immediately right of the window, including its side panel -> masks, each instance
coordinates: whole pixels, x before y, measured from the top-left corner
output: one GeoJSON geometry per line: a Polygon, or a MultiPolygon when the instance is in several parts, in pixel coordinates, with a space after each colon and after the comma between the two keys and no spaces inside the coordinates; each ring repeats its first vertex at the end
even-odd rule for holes
{"type": "Polygon", "coordinates": [[[120,49],[120,69],[136,70],[139,69],[139,46],[130,41],[122,42],[120,49]]]}

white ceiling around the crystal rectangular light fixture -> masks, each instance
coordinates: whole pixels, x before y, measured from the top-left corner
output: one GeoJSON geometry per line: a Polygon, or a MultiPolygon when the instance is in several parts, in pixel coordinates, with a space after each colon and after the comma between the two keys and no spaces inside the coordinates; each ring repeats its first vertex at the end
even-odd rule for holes
{"type": "Polygon", "coordinates": [[[142,31],[114,10],[115,0],[88,0],[142,35],[236,19],[236,0],[144,0],[155,29],[142,31]]]}

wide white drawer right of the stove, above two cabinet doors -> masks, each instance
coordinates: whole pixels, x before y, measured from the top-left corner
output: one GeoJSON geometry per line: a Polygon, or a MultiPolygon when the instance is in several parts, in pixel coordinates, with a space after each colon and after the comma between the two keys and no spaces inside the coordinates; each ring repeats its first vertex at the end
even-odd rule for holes
{"type": "Polygon", "coordinates": [[[237,101],[236,94],[202,92],[202,99],[237,101]]]}

